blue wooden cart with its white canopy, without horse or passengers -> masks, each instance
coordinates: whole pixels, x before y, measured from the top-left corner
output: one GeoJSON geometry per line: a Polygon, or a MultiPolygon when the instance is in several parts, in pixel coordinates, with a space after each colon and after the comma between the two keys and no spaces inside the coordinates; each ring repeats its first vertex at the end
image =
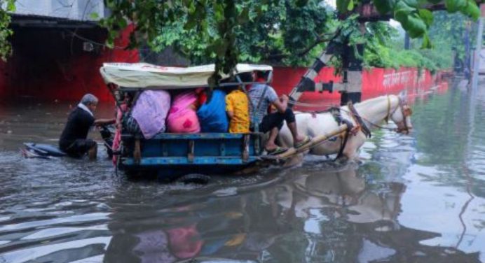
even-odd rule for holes
{"type": "MultiPolygon", "coordinates": [[[[272,71],[272,68],[250,64],[238,64],[236,67],[237,73],[254,70],[272,71]]],[[[109,63],[104,64],[100,71],[116,100],[120,97],[120,92],[207,87],[207,79],[214,72],[214,65],[172,68],[150,64],[109,63]]],[[[232,83],[235,84],[237,83],[232,83]]],[[[118,154],[117,168],[125,173],[156,173],[159,178],[172,179],[189,173],[220,174],[240,171],[259,162],[261,149],[261,134],[257,132],[162,133],[150,139],[137,138],[123,132],[121,151],[115,154],[118,154]],[[135,157],[137,143],[141,155],[135,157]]]]}

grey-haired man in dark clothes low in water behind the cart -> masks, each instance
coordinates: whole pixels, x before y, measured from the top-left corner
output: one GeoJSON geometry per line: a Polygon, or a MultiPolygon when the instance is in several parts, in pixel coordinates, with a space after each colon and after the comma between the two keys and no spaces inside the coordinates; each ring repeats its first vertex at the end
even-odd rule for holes
{"type": "Polygon", "coordinates": [[[71,157],[83,157],[88,153],[89,159],[97,157],[97,143],[88,137],[88,131],[93,125],[103,126],[115,122],[114,119],[95,119],[98,99],[93,94],[86,94],[81,102],[74,108],[59,140],[60,150],[71,157]]]}

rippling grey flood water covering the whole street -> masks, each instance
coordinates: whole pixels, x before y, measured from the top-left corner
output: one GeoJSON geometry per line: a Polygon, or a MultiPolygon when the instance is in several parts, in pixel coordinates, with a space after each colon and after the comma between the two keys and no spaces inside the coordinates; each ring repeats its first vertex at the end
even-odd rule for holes
{"type": "Polygon", "coordinates": [[[116,177],[102,148],[24,159],[22,142],[57,143],[69,106],[3,105],[0,262],[485,262],[483,83],[474,99],[416,99],[414,133],[374,131],[357,163],[204,186],[116,177]]]}

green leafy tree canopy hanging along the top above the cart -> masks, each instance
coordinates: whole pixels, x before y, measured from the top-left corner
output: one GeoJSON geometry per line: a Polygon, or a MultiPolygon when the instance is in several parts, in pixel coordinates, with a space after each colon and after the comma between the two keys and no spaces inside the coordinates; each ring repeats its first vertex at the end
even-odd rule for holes
{"type": "MultiPolygon", "coordinates": [[[[336,6],[341,15],[352,20],[352,11],[364,1],[337,0],[336,6]]],[[[241,60],[258,61],[275,55],[289,60],[301,59],[316,50],[310,48],[311,43],[321,48],[318,42],[330,31],[329,21],[325,19],[330,17],[327,12],[318,15],[312,12],[315,8],[308,8],[319,5],[319,1],[106,0],[106,3],[112,15],[103,24],[111,32],[125,27],[126,20],[133,21],[138,36],[160,47],[175,44],[193,61],[216,62],[217,69],[224,72],[241,60]],[[303,34],[305,26],[308,31],[303,34]]],[[[423,47],[428,48],[431,46],[428,31],[433,22],[430,6],[443,4],[449,12],[460,12],[474,19],[479,17],[479,8],[472,0],[372,0],[372,3],[381,14],[391,15],[401,22],[411,37],[423,37],[423,47]]],[[[365,42],[362,38],[368,36],[367,32],[357,34],[355,27],[348,29],[348,32],[339,31],[343,38],[365,42]]],[[[109,43],[115,36],[110,34],[109,43]]],[[[135,34],[132,40],[136,43],[135,34]]]]}

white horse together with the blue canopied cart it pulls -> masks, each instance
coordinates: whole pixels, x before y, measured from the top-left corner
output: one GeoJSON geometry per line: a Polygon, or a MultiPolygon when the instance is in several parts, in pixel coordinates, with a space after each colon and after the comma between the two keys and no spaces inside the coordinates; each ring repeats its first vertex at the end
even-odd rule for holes
{"type": "MultiPolygon", "coordinates": [[[[209,88],[207,80],[214,73],[214,65],[176,68],[143,63],[107,63],[100,71],[116,106],[121,108],[125,94],[130,94],[133,107],[139,94],[146,90],[177,92],[199,87],[209,88]]],[[[238,64],[234,73],[237,76],[238,73],[252,71],[269,71],[266,82],[271,82],[271,66],[238,64]]],[[[232,83],[219,84],[219,88],[224,90],[224,87],[238,85],[247,94],[246,87],[251,84],[242,83],[236,77],[232,83]]],[[[117,156],[116,168],[128,175],[150,173],[161,179],[173,180],[192,173],[231,173],[265,162],[282,163],[280,161],[305,152],[313,155],[337,154],[337,157],[355,157],[365,138],[370,136],[370,129],[381,127],[379,123],[392,120],[397,125],[395,130],[406,134],[412,128],[409,118],[411,109],[403,96],[385,95],[355,104],[355,107],[348,104],[334,110],[336,115],[329,111],[296,115],[299,131],[301,128],[302,134],[310,134],[313,138],[299,148],[292,148],[292,143],[287,141],[289,150],[275,156],[264,155],[263,134],[257,129],[247,134],[160,133],[151,138],[143,138],[130,134],[121,125],[121,147],[114,152],[117,156]],[[329,138],[333,139],[329,141],[329,138]]],[[[284,126],[280,131],[280,137],[283,141],[285,137],[291,137],[287,127],[284,126]]]]}

